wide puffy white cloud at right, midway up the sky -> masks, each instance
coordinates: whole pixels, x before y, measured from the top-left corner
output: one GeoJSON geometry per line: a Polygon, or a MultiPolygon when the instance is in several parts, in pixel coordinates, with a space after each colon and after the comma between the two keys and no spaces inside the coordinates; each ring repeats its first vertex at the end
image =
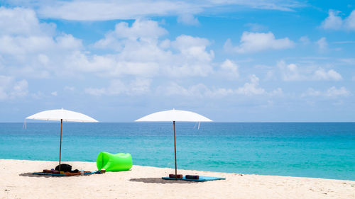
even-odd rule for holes
{"type": "Polygon", "coordinates": [[[323,69],[319,67],[298,67],[297,64],[286,64],[284,61],[278,62],[283,81],[339,81],[342,75],[334,69],[323,69]]]}

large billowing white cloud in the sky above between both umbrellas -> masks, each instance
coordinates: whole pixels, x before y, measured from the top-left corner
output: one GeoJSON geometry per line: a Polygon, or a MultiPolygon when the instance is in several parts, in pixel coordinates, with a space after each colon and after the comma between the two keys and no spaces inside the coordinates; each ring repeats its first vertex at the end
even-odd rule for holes
{"type": "MultiPolygon", "coordinates": [[[[116,55],[104,57],[110,62],[105,64],[108,68],[104,70],[111,75],[207,76],[213,72],[214,52],[207,51],[209,40],[190,35],[180,35],[175,40],[159,40],[166,33],[155,21],[138,20],[131,26],[119,23],[114,31],[96,42],[94,47],[116,50],[116,55]],[[136,31],[138,33],[133,34],[136,31]]],[[[86,68],[102,70],[97,64],[92,67],[86,68]]]]}

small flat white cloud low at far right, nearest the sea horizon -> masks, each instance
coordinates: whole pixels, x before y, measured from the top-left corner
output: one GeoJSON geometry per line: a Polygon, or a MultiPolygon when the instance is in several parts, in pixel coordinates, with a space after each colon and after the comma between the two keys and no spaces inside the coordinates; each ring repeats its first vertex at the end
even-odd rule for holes
{"type": "Polygon", "coordinates": [[[348,91],[344,86],[340,87],[337,89],[337,87],[332,86],[327,91],[317,91],[312,88],[308,88],[305,93],[302,93],[302,97],[318,97],[318,96],[323,96],[323,97],[329,97],[329,98],[338,98],[338,97],[346,97],[350,96],[351,93],[348,91]]]}

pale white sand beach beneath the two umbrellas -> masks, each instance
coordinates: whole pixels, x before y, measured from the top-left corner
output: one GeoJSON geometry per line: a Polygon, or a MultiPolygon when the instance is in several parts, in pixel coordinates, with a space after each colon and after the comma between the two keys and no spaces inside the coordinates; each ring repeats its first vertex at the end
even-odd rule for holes
{"type": "MultiPolygon", "coordinates": [[[[93,162],[64,162],[94,171],[93,162]]],[[[131,171],[91,176],[31,175],[56,161],[0,159],[0,198],[355,198],[355,181],[178,170],[179,174],[224,177],[203,183],[164,181],[173,169],[133,166],[131,171]]]]}

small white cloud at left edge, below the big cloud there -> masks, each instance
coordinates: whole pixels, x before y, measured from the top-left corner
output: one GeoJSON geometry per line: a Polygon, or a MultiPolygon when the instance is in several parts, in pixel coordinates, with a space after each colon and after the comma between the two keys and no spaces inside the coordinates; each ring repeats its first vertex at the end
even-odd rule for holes
{"type": "Polygon", "coordinates": [[[28,82],[16,81],[12,76],[0,75],[0,100],[13,99],[28,95],[28,82]]]}

